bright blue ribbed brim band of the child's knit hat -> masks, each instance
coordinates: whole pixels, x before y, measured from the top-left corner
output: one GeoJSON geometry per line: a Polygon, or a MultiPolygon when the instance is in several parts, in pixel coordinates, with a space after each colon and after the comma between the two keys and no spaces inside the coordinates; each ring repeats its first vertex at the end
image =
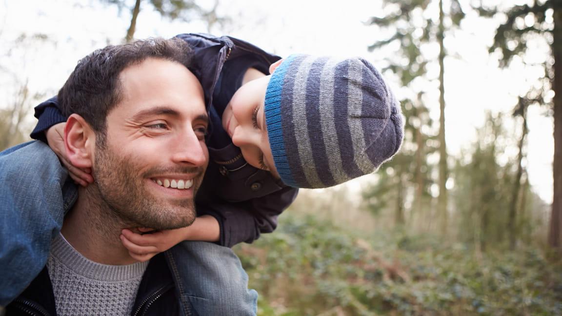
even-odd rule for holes
{"type": "Polygon", "coordinates": [[[298,187],[291,174],[291,166],[287,161],[287,153],[285,152],[280,106],[285,73],[287,73],[287,69],[292,64],[293,59],[294,56],[285,58],[269,79],[268,88],[265,93],[265,122],[268,129],[269,146],[271,147],[271,154],[273,154],[277,172],[285,184],[298,187]]]}

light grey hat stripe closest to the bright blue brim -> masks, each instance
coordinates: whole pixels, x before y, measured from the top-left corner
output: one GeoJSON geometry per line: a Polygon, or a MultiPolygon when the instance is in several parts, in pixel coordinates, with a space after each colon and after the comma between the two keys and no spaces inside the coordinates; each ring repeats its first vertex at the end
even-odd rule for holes
{"type": "Polygon", "coordinates": [[[312,187],[317,183],[321,183],[318,177],[318,171],[314,165],[314,159],[312,158],[313,153],[306,121],[306,82],[310,67],[315,59],[316,57],[314,56],[307,56],[305,60],[302,61],[301,67],[299,67],[295,75],[293,85],[294,135],[297,137],[298,156],[303,167],[302,171],[305,175],[306,182],[312,187]]]}

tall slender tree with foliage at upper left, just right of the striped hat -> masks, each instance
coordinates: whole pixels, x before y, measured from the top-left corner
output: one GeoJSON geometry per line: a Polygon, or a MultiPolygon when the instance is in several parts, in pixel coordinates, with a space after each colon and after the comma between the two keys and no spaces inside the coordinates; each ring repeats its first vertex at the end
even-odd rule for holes
{"type": "Polygon", "coordinates": [[[389,68],[395,70],[402,79],[402,84],[408,85],[417,76],[426,75],[425,66],[428,64],[427,57],[423,56],[420,47],[427,43],[437,43],[439,46],[439,197],[438,213],[441,222],[441,232],[446,233],[448,227],[447,213],[447,146],[445,141],[445,36],[460,26],[464,18],[464,12],[458,0],[448,1],[445,6],[443,0],[438,1],[437,12],[434,6],[430,6],[430,0],[384,0],[385,10],[390,11],[384,17],[372,17],[371,25],[377,25],[384,29],[395,30],[394,34],[386,39],[373,44],[370,49],[381,48],[393,44],[400,44],[400,51],[395,66],[389,68]],[[433,10],[433,11],[432,11],[433,10]],[[433,17],[436,17],[434,19],[433,17]],[[436,20],[436,21],[435,21],[436,20]],[[447,27],[446,27],[447,25],[447,27]],[[407,63],[398,62],[400,58],[407,58],[407,63]],[[413,70],[407,70],[410,68],[413,70]]]}

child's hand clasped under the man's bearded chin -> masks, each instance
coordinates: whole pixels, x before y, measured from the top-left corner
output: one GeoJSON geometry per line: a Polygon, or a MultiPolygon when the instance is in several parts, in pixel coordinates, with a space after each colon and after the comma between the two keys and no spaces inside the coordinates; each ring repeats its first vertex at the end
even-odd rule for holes
{"type": "MultiPolygon", "coordinates": [[[[129,255],[135,260],[144,262],[184,241],[187,229],[187,227],[184,227],[148,234],[137,234],[129,229],[123,229],[120,237],[123,246],[129,250],[129,255]]],[[[139,231],[150,232],[153,229],[139,228],[139,231]]]]}

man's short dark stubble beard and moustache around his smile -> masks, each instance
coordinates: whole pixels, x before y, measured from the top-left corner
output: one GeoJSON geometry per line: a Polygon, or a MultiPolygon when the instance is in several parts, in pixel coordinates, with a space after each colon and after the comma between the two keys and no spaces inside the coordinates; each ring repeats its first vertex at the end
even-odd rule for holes
{"type": "MultiPolygon", "coordinates": [[[[194,197],[183,200],[159,199],[148,192],[146,179],[149,175],[166,173],[197,173],[193,179],[193,192],[197,192],[205,168],[172,166],[152,168],[143,174],[135,164],[134,156],[119,156],[107,146],[96,146],[94,162],[96,182],[89,191],[105,209],[107,220],[121,227],[149,227],[157,230],[176,229],[191,225],[196,218],[194,197]]],[[[96,203],[97,204],[97,203],[96,203]]],[[[103,211],[103,210],[102,210],[103,211]]]]}

